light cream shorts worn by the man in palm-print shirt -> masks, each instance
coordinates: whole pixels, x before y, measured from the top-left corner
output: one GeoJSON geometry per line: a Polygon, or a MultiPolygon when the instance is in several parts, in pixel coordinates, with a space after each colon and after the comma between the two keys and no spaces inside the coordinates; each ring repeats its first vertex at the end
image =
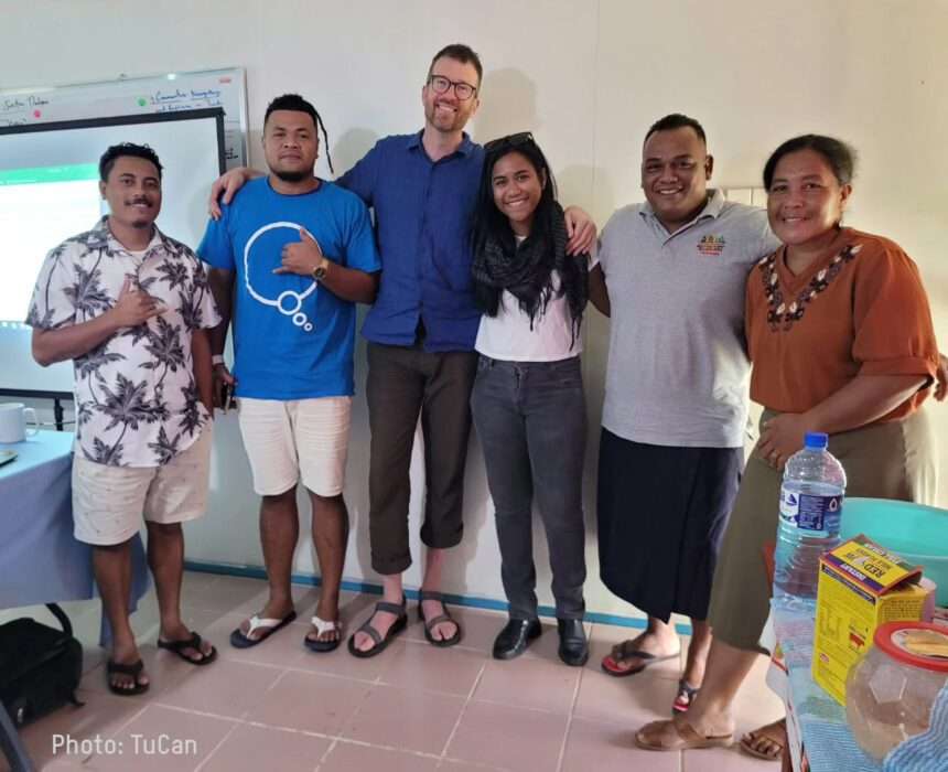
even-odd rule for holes
{"type": "Polygon", "coordinates": [[[184,523],[207,510],[212,425],[163,467],[109,467],[73,459],[73,523],[79,542],[128,542],[150,523],[184,523]]]}

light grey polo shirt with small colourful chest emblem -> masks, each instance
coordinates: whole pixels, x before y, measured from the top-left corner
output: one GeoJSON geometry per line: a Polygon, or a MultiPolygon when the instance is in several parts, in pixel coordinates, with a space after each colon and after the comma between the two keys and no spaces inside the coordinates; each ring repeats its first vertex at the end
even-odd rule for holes
{"type": "Polygon", "coordinates": [[[720,191],[675,234],[647,203],[610,218],[600,251],[612,307],[606,429],[647,444],[743,446],[744,287],[778,244],[766,212],[720,191]]]}

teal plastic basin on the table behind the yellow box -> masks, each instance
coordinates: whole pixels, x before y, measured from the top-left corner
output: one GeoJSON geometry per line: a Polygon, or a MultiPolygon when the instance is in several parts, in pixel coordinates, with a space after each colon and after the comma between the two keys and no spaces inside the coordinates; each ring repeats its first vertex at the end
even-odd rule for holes
{"type": "Polygon", "coordinates": [[[859,534],[923,566],[923,575],[938,585],[938,605],[948,607],[948,510],[887,498],[847,498],[840,535],[848,539],[859,534]]]}

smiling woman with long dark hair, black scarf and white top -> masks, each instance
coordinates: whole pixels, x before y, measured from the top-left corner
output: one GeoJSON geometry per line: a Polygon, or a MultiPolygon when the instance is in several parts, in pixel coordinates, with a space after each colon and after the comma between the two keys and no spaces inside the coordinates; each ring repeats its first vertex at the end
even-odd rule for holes
{"type": "Polygon", "coordinates": [[[582,472],[585,400],[580,323],[589,255],[567,255],[563,211],[529,132],[484,146],[472,238],[474,292],[483,309],[471,395],[500,545],[509,621],[494,656],[509,660],[540,632],[532,504],[547,532],[560,658],[583,665],[589,647],[582,472]]]}

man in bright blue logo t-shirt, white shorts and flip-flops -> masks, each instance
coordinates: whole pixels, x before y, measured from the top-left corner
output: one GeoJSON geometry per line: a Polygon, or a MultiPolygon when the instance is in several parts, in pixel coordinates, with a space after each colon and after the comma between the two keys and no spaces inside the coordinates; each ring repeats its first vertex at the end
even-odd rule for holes
{"type": "Polygon", "coordinates": [[[223,207],[198,247],[212,266],[211,286],[223,317],[212,334],[215,384],[240,398],[240,433],[254,490],[262,496],[260,536],[270,597],[259,614],[231,633],[238,648],[257,645],[295,619],[290,575],[300,480],[312,503],[323,579],[305,644],[326,652],[341,640],[338,597],[348,537],[342,492],[355,304],[375,300],[381,264],[365,204],[313,175],[319,128],[319,114],[299,95],[273,99],[263,119],[269,174],[223,207]],[[233,375],[223,357],[231,297],[233,375]]]}

